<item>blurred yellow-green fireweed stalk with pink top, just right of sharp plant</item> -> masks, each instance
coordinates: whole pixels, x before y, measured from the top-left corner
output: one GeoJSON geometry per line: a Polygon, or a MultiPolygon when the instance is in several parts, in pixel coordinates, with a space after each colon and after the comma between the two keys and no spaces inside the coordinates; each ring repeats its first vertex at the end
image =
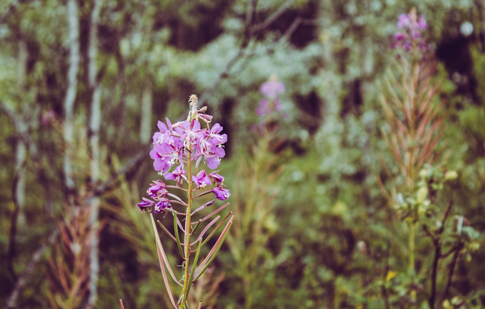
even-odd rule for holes
{"type": "Polygon", "coordinates": [[[268,305],[267,295],[261,295],[261,287],[266,275],[273,271],[270,268],[275,267],[275,259],[268,258],[272,253],[267,244],[277,228],[275,198],[279,186],[275,184],[283,167],[278,164],[280,156],[275,147],[279,144],[276,134],[283,116],[278,96],[284,90],[285,85],[275,75],[261,85],[264,98],[256,109],[257,136],[249,153],[239,152],[242,157],[235,170],[236,219],[227,244],[234,259],[233,275],[238,278],[234,286],[242,290],[245,309],[257,303],[268,305]]]}

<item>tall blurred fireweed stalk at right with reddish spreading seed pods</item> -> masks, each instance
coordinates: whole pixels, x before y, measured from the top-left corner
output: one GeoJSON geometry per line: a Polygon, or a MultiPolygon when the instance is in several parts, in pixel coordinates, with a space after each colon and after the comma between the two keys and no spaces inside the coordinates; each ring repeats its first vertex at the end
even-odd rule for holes
{"type": "MultiPolygon", "coordinates": [[[[387,74],[380,101],[389,128],[383,136],[403,177],[401,192],[391,196],[386,191],[386,195],[392,205],[401,206],[408,222],[408,269],[413,286],[416,227],[421,211],[417,204],[400,201],[403,196],[415,194],[418,173],[424,164],[433,164],[440,157],[436,145],[444,129],[445,113],[444,103],[437,98],[440,84],[433,80],[436,62],[422,36],[427,28],[424,16],[417,16],[413,8],[409,14],[399,16],[397,27],[400,32],[394,35],[393,47],[399,50],[398,64],[394,72],[387,74]]],[[[409,296],[411,303],[416,301],[412,287],[409,296]]]]}

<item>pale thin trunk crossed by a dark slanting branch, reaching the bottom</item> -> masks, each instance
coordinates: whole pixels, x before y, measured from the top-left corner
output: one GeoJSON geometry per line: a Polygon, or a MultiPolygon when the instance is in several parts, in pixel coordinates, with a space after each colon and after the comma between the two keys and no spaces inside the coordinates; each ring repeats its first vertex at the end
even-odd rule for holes
{"type": "MultiPolygon", "coordinates": [[[[101,127],[101,87],[97,81],[97,52],[98,35],[97,26],[99,24],[99,13],[101,11],[102,0],[95,0],[93,11],[91,12],[91,28],[89,30],[89,49],[88,49],[88,82],[92,91],[91,99],[91,119],[89,122],[90,137],[89,145],[91,148],[91,183],[94,185],[99,181],[100,169],[100,149],[99,149],[99,130],[101,127]]],[[[91,273],[89,276],[89,299],[86,308],[95,308],[97,301],[97,281],[99,277],[99,197],[97,195],[90,198],[89,207],[90,218],[89,226],[91,231],[91,244],[89,263],[91,273]]]]}

